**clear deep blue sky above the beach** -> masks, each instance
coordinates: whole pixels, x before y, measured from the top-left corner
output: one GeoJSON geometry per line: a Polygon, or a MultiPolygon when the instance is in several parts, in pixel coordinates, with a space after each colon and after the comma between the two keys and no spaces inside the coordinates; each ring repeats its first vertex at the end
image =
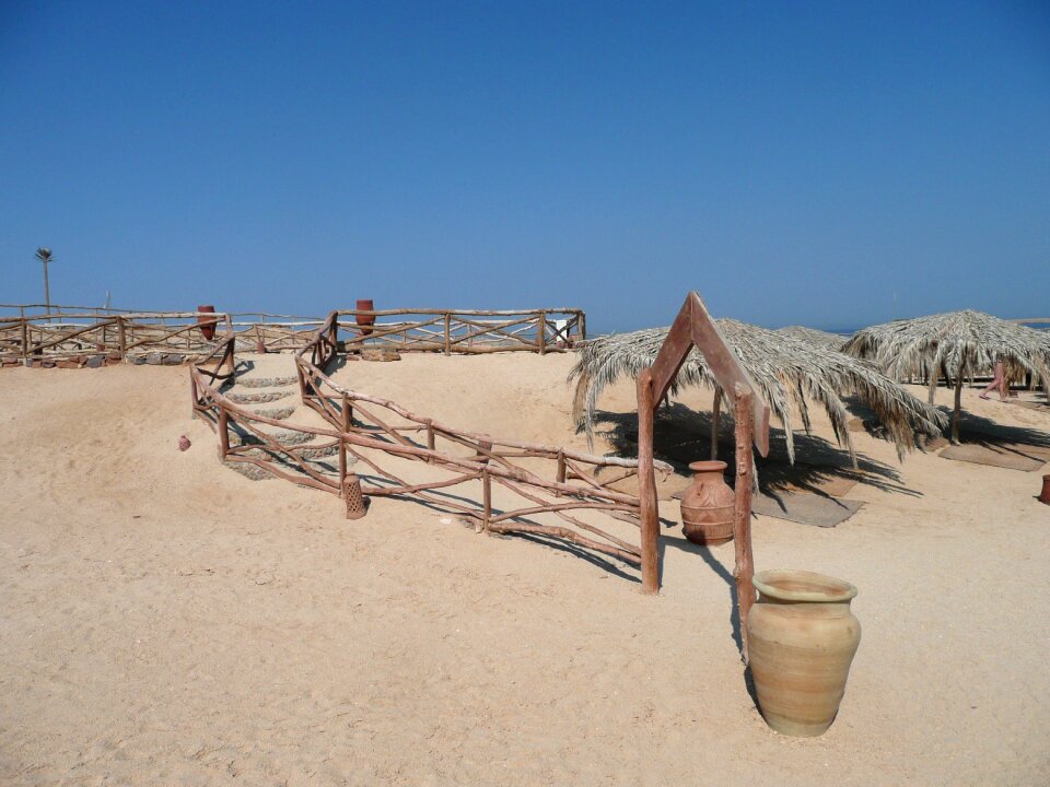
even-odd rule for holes
{"type": "Polygon", "coordinates": [[[1048,316],[1050,3],[0,0],[0,301],[37,246],[136,308],[1048,316]]]}

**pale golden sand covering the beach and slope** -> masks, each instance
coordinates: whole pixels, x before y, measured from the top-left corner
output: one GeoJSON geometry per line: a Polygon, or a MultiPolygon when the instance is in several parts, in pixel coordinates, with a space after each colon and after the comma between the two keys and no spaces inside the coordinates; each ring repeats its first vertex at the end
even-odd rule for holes
{"type": "MultiPolygon", "coordinates": [[[[288,355],[253,360],[253,374],[292,374],[288,355]]],[[[335,378],[585,448],[572,361],[406,355],[335,378]]],[[[409,501],[347,521],[329,495],[223,468],[188,385],[185,367],[0,373],[0,784],[1050,783],[1046,468],[898,463],[858,433],[880,468],[849,493],[859,513],[828,529],[756,517],[757,569],[860,589],[839,717],[792,739],[744,680],[732,544],[665,527],[663,589],[646,597],[626,565],[409,501]]],[[[676,402],[705,412],[711,397],[676,402]]],[[[1050,414],[977,390],[964,406],[1050,432],[1050,414]]],[[[602,400],[634,407],[631,385],[602,400]]],[[[316,419],[299,407],[291,421],[316,419]]],[[[677,504],[661,514],[677,520],[677,504]]]]}

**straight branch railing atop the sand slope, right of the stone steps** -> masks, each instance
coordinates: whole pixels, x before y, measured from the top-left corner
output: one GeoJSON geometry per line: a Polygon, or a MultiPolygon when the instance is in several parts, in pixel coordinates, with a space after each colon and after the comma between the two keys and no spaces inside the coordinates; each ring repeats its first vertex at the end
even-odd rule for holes
{"type": "Polygon", "coordinates": [[[559,352],[586,339],[582,309],[522,312],[470,309],[359,309],[335,313],[349,336],[347,352],[365,348],[416,352],[559,352]],[[400,317],[401,319],[382,318],[400,317]],[[374,322],[369,324],[369,320],[374,322]],[[363,322],[363,324],[362,324],[363,322]]]}

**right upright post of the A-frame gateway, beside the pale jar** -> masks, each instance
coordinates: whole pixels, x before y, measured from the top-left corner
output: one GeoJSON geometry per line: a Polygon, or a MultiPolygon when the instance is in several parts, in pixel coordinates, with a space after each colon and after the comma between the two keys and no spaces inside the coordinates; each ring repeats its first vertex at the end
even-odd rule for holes
{"type": "Polygon", "coordinates": [[[733,516],[733,543],[736,550],[736,609],[740,621],[740,645],[744,663],[747,663],[747,616],[755,603],[755,563],[751,557],[751,489],[755,483],[751,442],[755,422],[751,410],[751,391],[736,384],[734,391],[736,419],[736,501],[733,516]]]}

